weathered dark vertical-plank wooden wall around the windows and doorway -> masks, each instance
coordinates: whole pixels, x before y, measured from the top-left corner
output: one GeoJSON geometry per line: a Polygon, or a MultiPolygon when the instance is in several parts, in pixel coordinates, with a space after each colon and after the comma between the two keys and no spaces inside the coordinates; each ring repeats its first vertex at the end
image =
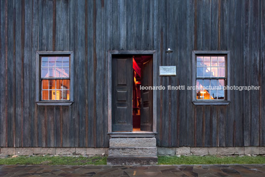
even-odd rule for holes
{"type": "Polygon", "coordinates": [[[108,50],[156,50],[177,65],[163,86],[192,85],[192,50],[231,51],[231,85],[262,89],[228,106],[159,91],[157,145],[265,146],[264,0],[0,0],[0,147],[108,147],[108,50]],[[72,106],[36,105],[36,51],[74,51],[72,106]]]}

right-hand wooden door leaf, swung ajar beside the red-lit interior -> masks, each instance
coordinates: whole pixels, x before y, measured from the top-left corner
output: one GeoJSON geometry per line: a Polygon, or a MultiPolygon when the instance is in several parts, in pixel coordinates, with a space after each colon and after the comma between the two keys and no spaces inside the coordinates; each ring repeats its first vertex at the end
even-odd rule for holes
{"type": "MultiPolygon", "coordinates": [[[[152,59],[143,63],[141,86],[153,86],[152,59]]],[[[153,91],[141,90],[141,131],[152,131],[153,124],[153,91]]]]}

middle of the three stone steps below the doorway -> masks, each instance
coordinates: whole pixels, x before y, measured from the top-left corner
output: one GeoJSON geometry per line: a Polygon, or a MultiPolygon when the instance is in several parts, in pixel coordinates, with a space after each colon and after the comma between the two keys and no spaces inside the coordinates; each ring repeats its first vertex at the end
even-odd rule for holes
{"type": "Polygon", "coordinates": [[[109,156],[157,156],[157,147],[110,147],[109,156]]]}

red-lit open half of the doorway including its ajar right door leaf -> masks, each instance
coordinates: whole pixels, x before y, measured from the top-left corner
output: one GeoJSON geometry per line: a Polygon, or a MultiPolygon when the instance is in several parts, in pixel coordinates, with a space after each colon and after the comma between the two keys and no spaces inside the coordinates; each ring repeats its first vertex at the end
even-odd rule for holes
{"type": "Polygon", "coordinates": [[[133,131],[152,130],[152,84],[152,56],[133,56],[133,131]]]}

